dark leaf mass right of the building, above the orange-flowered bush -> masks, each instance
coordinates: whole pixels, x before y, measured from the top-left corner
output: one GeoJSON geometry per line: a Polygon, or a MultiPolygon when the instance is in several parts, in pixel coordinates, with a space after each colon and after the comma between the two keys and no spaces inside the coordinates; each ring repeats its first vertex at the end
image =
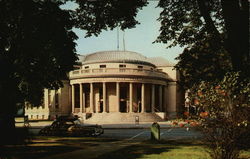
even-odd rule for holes
{"type": "Polygon", "coordinates": [[[185,89],[191,88],[201,81],[222,79],[226,72],[232,70],[228,52],[220,47],[214,49],[207,39],[186,48],[177,58],[175,68],[180,71],[181,84],[185,89]]]}

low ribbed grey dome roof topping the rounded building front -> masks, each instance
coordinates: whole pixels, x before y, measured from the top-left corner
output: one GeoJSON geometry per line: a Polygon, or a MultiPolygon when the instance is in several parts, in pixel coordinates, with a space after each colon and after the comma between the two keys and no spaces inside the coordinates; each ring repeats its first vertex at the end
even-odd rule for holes
{"type": "Polygon", "coordinates": [[[91,63],[108,63],[108,62],[123,62],[123,63],[135,63],[135,64],[152,64],[147,57],[132,51],[101,51],[92,54],[85,55],[81,58],[82,64],[91,63]]]}

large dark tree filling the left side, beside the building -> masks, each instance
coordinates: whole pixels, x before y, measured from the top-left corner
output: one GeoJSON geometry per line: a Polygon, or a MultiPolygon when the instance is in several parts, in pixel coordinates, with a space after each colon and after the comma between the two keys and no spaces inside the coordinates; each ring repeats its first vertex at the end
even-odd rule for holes
{"type": "Polygon", "coordinates": [[[77,36],[71,30],[72,17],[60,9],[61,4],[0,0],[0,97],[5,103],[1,103],[1,133],[13,131],[17,103],[38,105],[43,89],[59,88],[73,69],[77,36]]]}

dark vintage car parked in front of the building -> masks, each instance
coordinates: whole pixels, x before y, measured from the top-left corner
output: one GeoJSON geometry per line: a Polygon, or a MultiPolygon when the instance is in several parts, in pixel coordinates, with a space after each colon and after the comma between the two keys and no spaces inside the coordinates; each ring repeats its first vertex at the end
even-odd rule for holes
{"type": "Polygon", "coordinates": [[[50,126],[40,130],[45,136],[99,136],[104,133],[100,125],[84,125],[77,117],[59,117],[50,126]]]}

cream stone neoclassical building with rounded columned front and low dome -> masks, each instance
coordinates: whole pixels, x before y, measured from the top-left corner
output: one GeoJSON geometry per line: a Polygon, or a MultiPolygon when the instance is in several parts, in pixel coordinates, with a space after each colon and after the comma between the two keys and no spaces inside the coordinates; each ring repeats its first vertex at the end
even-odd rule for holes
{"type": "Polygon", "coordinates": [[[160,121],[182,111],[184,95],[173,64],[131,51],[79,56],[79,65],[58,90],[44,90],[40,107],[27,107],[29,119],[78,115],[84,121],[160,121]]]}

